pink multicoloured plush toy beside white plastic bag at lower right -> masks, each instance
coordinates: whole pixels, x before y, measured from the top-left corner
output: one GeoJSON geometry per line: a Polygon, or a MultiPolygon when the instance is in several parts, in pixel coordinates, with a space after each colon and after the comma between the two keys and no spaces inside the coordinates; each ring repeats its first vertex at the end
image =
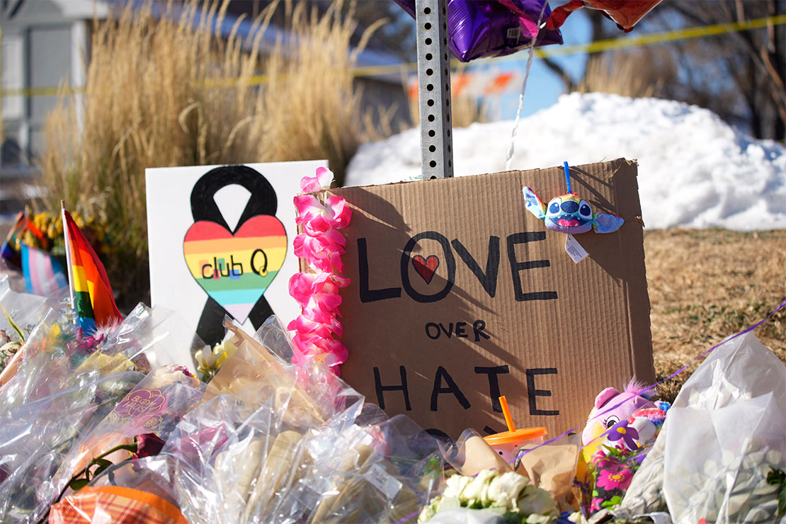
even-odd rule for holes
{"type": "Polygon", "coordinates": [[[644,392],[645,388],[645,384],[631,379],[622,392],[607,387],[598,394],[582,431],[582,453],[587,463],[601,445],[636,449],[638,445],[655,438],[666,419],[669,403],[650,401],[649,398],[655,393],[644,392]],[[612,427],[613,431],[600,438],[612,427]]]}

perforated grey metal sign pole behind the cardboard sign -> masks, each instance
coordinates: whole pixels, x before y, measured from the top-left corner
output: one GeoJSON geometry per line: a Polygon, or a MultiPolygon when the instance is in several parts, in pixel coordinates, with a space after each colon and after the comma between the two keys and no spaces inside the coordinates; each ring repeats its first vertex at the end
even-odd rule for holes
{"type": "Polygon", "coordinates": [[[416,0],[422,177],[453,177],[447,0],[416,0]]]}

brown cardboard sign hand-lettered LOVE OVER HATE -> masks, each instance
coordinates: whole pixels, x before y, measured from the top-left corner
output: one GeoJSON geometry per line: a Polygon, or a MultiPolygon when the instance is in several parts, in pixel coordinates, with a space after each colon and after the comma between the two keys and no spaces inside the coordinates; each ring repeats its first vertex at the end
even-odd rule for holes
{"type": "Polygon", "coordinates": [[[652,381],[636,163],[571,167],[615,233],[565,235],[524,208],[522,187],[565,193],[562,167],[332,190],[351,205],[342,290],[342,378],[388,415],[457,438],[467,427],[556,435],[586,420],[604,387],[652,381]]]}

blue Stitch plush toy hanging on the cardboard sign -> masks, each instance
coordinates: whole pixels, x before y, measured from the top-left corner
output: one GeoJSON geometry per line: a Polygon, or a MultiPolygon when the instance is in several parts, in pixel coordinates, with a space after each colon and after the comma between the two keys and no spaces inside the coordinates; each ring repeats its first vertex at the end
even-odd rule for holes
{"type": "Polygon", "coordinates": [[[593,213],[592,206],[584,199],[578,198],[571,192],[570,168],[564,163],[565,183],[567,193],[555,196],[549,200],[549,205],[544,205],[540,197],[526,185],[523,187],[524,207],[540,220],[545,221],[545,226],[552,231],[578,235],[595,228],[596,233],[614,233],[625,222],[614,214],[593,213]]]}

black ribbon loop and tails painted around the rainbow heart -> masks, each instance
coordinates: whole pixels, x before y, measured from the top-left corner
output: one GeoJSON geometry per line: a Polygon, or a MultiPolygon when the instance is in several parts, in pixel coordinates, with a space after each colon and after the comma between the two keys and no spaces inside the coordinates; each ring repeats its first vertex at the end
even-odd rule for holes
{"type": "MultiPolygon", "coordinates": [[[[215,222],[222,225],[233,235],[249,218],[259,216],[260,214],[275,216],[277,207],[278,200],[273,186],[270,185],[270,182],[267,181],[263,174],[248,166],[215,167],[202,175],[191,190],[191,214],[194,222],[215,222]],[[237,225],[235,225],[234,229],[230,229],[219,210],[219,206],[215,203],[214,196],[219,189],[233,184],[242,185],[245,189],[248,189],[248,192],[251,192],[251,196],[248,199],[248,203],[246,203],[240,220],[237,221],[237,225]]],[[[221,342],[224,338],[222,323],[225,314],[232,316],[222,308],[219,302],[216,302],[215,299],[208,295],[208,302],[205,303],[199,324],[196,325],[196,334],[200,336],[204,343],[211,347],[221,342]]],[[[259,326],[272,314],[273,310],[270,308],[270,304],[267,303],[265,295],[262,295],[257,299],[251,312],[248,313],[248,319],[251,320],[255,329],[259,329],[259,326]]]]}

